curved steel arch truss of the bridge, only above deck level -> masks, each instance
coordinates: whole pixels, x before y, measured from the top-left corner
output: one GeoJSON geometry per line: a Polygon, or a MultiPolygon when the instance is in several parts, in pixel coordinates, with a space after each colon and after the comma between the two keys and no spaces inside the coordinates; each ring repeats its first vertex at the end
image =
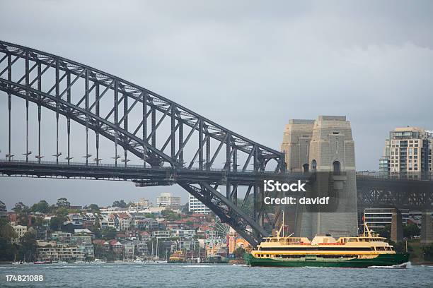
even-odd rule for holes
{"type": "MultiPolygon", "coordinates": [[[[13,66],[16,60],[20,58],[31,62],[31,64],[28,65],[29,67],[31,66],[31,68],[28,68],[28,71],[24,71],[23,76],[14,85],[20,90],[23,90],[23,88],[31,89],[31,87],[35,85],[36,81],[39,81],[40,78],[31,80],[31,82],[28,80],[28,85],[21,85],[21,82],[28,78],[29,71],[31,72],[32,70],[35,70],[37,65],[44,66],[41,71],[42,74],[46,73],[46,71],[50,68],[55,70],[57,79],[54,81],[54,83],[52,83],[51,89],[45,91],[45,97],[49,97],[52,104],[67,104],[67,100],[64,100],[64,96],[70,93],[79,78],[82,78],[86,83],[85,95],[83,95],[81,100],[75,105],[76,107],[70,108],[74,109],[73,111],[75,112],[79,111],[79,116],[90,116],[93,118],[94,125],[98,126],[99,124],[99,126],[103,126],[103,128],[109,127],[110,131],[121,134],[120,136],[122,137],[118,136],[117,140],[123,139],[122,141],[125,142],[125,145],[128,145],[127,143],[132,141],[132,144],[129,144],[128,146],[141,145],[142,150],[148,149],[151,152],[154,152],[156,157],[160,158],[161,162],[166,162],[171,166],[184,166],[182,152],[191,136],[187,136],[185,139],[179,139],[179,143],[175,143],[174,136],[175,132],[179,133],[179,130],[185,125],[190,128],[194,128],[194,130],[197,131],[201,136],[201,139],[199,139],[199,147],[197,152],[195,153],[195,156],[190,159],[190,161],[187,161],[187,163],[189,162],[187,167],[192,167],[192,164],[198,157],[199,167],[202,167],[203,169],[212,168],[214,165],[214,160],[221,150],[221,148],[219,148],[218,153],[216,153],[217,155],[213,155],[211,157],[209,141],[207,139],[212,138],[219,141],[219,143],[224,143],[227,146],[226,164],[224,165],[225,169],[227,170],[233,169],[236,171],[238,166],[242,166],[242,170],[244,171],[248,168],[248,162],[244,162],[243,165],[239,165],[237,162],[238,157],[236,156],[236,151],[240,151],[246,153],[248,161],[251,160],[251,157],[256,158],[256,160],[260,162],[258,165],[261,166],[261,169],[265,169],[267,162],[270,160],[275,160],[277,162],[277,167],[275,170],[284,171],[284,154],[282,152],[267,148],[264,145],[260,145],[259,143],[255,143],[254,141],[239,135],[238,133],[229,131],[219,124],[216,124],[213,121],[210,121],[209,119],[192,112],[190,109],[168,100],[161,95],[151,92],[150,90],[142,88],[139,85],[135,85],[123,80],[122,78],[112,76],[108,73],[99,71],[89,66],[85,66],[83,64],[79,64],[75,61],[70,61],[68,59],[54,56],[52,54],[41,52],[35,49],[30,49],[28,47],[22,47],[17,44],[0,41],[0,63],[1,61],[6,61],[9,56],[14,57],[13,61],[11,61],[11,66],[13,66]],[[1,57],[1,54],[4,54],[4,56],[1,57]],[[64,75],[59,76],[60,72],[64,73],[64,75]],[[70,79],[71,76],[75,76],[74,80],[72,81],[70,79]],[[60,91],[59,83],[62,81],[67,82],[67,88],[60,91]],[[104,92],[97,95],[96,100],[91,104],[89,102],[90,100],[88,99],[88,94],[91,92],[91,90],[96,89],[96,86],[104,88],[104,92]],[[112,90],[115,95],[117,95],[117,102],[115,102],[114,107],[107,115],[105,115],[105,117],[96,115],[98,113],[92,111],[95,111],[98,103],[104,100],[107,90],[112,90]],[[119,95],[121,95],[120,98],[119,95]],[[119,119],[120,114],[118,110],[120,102],[124,104],[124,113],[119,119]],[[128,114],[132,111],[132,109],[137,108],[138,102],[146,103],[145,105],[142,105],[144,112],[142,122],[138,123],[135,129],[128,129],[129,126],[131,126],[128,121],[128,114]],[[125,106],[125,103],[132,104],[127,104],[127,106],[125,106]],[[147,118],[149,117],[149,114],[151,114],[151,117],[153,117],[153,115],[156,114],[156,111],[161,112],[164,119],[167,116],[171,118],[171,136],[166,140],[166,143],[164,143],[162,147],[164,148],[163,150],[166,150],[168,147],[171,148],[171,153],[169,153],[170,156],[164,153],[162,148],[158,151],[158,148],[154,147],[155,145],[151,145],[155,143],[159,126],[158,124],[161,124],[161,119],[158,121],[158,124],[154,123],[151,125],[152,130],[149,133],[146,131],[147,125],[145,124],[147,124],[147,118]],[[115,121],[113,121],[114,123],[109,123],[110,121],[107,121],[107,119],[111,116],[115,116],[115,121]],[[142,129],[142,136],[137,136],[137,131],[140,129],[142,129]],[[141,140],[141,143],[135,143],[138,140],[141,140]],[[149,141],[151,142],[150,144],[149,141]],[[176,144],[180,146],[178,149],[175,149],[176,144]]],[[[4,71],[0,71],[1,78],[4,79],[3,75],[6,73],[6,71],[6,69],[4,69],[4,71]]],[[[4,84],[6,84],[6,82],[4,82],[4,84]]],[[[35,90],[37,92],[42,92],[40,91],[40,88],[35,90]]],[[[62,109],[62,107],[58,108],[62,109]]],[[[72,112],[67,111],[67,113],[71,119],[75,116],[72,112]]],[[[130,147],[127,147],[127,149],[129,150],[130,147]]],[[[142,154],[146,153],[142,152],[142,154]]]]}

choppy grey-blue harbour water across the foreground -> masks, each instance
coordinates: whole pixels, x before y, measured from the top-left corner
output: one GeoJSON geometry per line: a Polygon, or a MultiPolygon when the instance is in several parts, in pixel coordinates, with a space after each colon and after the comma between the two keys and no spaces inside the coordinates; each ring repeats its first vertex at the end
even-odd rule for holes
{"type": "Polygon", "coordinates": [[[0,287],[433,287],[433,267],[251,268],[224,264],[0,265],[0,287]],[[6,282],[6,275],[44,275],[6,282]]]}

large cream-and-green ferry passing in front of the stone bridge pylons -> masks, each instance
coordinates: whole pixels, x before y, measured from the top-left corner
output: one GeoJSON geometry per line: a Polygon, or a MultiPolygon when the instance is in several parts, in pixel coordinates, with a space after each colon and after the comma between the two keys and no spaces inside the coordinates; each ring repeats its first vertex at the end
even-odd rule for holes
{"type": "Polygon", "coordinates": [[[370,231],[364,223],[364,234],[358,237],[333,238],[329,234],[306,237],[281,235],[284,223],[276,237],[267,237],[258,247],[246,253],[250,266],[275,267],[337,267],[369,268],[371,266],[403,265],[409,253],[396,253],[393,246],[370,231]]]}

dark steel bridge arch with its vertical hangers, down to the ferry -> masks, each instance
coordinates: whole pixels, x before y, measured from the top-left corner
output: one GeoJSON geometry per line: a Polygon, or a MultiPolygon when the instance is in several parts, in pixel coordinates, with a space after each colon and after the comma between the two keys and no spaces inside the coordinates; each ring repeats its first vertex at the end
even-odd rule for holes
{"type": "MultiPolygon", "coordinates": [[[[117,147],[124,150],[125,167],[127,167],[127,152],[131,152],[144,162],[150,164],[155,169],[165,169],[171,167],[174,170],[190,170],[192,175],[204,174],[201,181],[190,176],[190,178],[179,180],[178,183],[192,195],[204,200],[204,204],[209,205],[221,220],[228,222],[236,231],[245,236],[251,244],[255,245],[262,236],[267,236],[258,222],[263,223],[262,203],[259,200],[260,188],[252,185],[259,178],[259,174],[269,170],[269,162],[275,162],[272,174],[285,172],[284,154],[267,148],[264,145],[255,143],[238,133],[216,124],[209,119],[192,112],[180,104],[162,97],[146,88],[130,83],[122,78],[112,76],[109,73],[99,71],[95,68],[70,61],[53,54],[38,51],[21,45],[0,41],[0,67],[6,64],[6,68],[0,69],[0,90],[8,94],[9,111],[9,147],[8,160],[11,161],[11,96],[21,97],[26,102],[26,128],[28,143],[28,103],[34,102],[38,107],[38,128],[39,128],[39,147],[38,161],[35,167],[41,167],[41,147],[40,147],[40,122],[41,107],[45,107],[55,112],[57,119],[57,148],[56,164],[60,164],[58,138],[59,138],[59,115],[67,118],[67,164],[71,164],[72,159],[69,154],[70,145],[70,121],[76,121],[86,128],[86,165],[88,165],[88,131],[96,133],[96,166],[100,159],[99,136],[104,136],[115,145],[115,166],[117,159],[117,147]],[[24,65],[20,66],[20,62],[24,65]],[[48,79],[48,80],[47,80],[48,79]],[[81,95],[77,94],[80,90],[81,95]],[[78,98],[77,98],[78,97],[78,98]],[[111,102],[112,101],[112,102],[111,102]],[[111,109],[103,112],[102,103],[111,102],[111,109]],[[137,112],[141,115],[137,117],[132,114],[137,112]],[[158,117],[159,115],[159,117],[158,117]],[[162,135],[164,121],[168,121],[170,135],[163,138],[163,144],[158,143],[156,136],[162,135]],[[188,131],[189,130],[189,131],[188,131]],[[192,141],[192,136],[197,136],[197,142],[192,141]],[[213,143],[213,144],[212,144],[213,143]],[[215,145],[215,143],[217,143],[215,145]],[[162,145],[161,145],[162,144],[162,145]],[[190,146],[197,146],[191,155],[185,155],[185,150],[190,146]],[[223,147],[225,146],[225,151],[223,147]],[[213,148],[213,150],[212,150],[213,148]],[[238,153],[243,155],[238,157],[238,153]],[[226,188],[226,196],[216,191],[211,184],[216,185],[221,181],[207,179],[211,176],[215,161],[218,157],[224,157],[224,170],[222,180],[226,188]],[[195,163],[198,161],[198,167],[195,163]],[[248,165],[253,165],[253,173],[248,172],[248,165]],[[241,181],[242,177],[243,180],[241,181]],[[248,179],[248,183],[245,181],[248,179]],[[254,197],[253,216],[250,217],[243,212],[237,205],[238,186],[248,186],[246,198],[250,191],[254,197]],[[200,196],[201,195],[201,196],[200,196]],[[204,198],[207,196],[207,198],[204,198]],[[212,204],[207,199],[219,199],[218,205],[212,204]]],[[[160,136],[159,136],[160,137],[160,136]]],[[[194,148],[195,149],[195,148],[194,148]]],[[[26,163],[30,163],[28,155],[30,151],[26,148],[26,163]]],[[[10,167],[6,167],[9,169],[10,167]]],[[[5,169],[6,169],[5,168],[5,169]]],[[[44,168],[45,169],[45,168],[44,168]]],[[[46,172],[41,169],[40,174],[46,172]]],[[[13,170],[13,169],[12,169],[13,170]]],[[[84,171],[85,169],[83,169],[84,171]]],[[[18,169],[16,173],[31,174],[18,169]]],[[[3,170],[4,174],[8,174],[3,170]]],[[[41,176],[41,175],[37,176],[41,176]]],[[[65,172],[68,174],[68,172],[65,172]]],[[[55,172],[54,172],[55,175],[55,172]]],[[[173,182],[159,179],[155,176],[142,182],[147,184],[166,185],[173,182]]],[[[139,178],[139,177],[137,177],[139,178]]],[[[212,177],[211,177],[212,178],[212,177]]],[[[140,183],[139,181],[137,183],[140,183]]],[[[244,203],[245,204],[245,201],[244,203]]],[[[267,216],[267,215],[266,215],[267,216]]],[[[267,216],[269,220],[269,217],[267,216]]]]}

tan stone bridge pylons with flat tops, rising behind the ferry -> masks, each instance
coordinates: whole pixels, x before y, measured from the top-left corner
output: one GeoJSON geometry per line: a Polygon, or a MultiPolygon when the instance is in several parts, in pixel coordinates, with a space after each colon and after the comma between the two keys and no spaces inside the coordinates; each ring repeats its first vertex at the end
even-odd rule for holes
{"type": "Polygon", "coordinates": [[[291,120],[284,131],[282,150],[287,169],[316,172],[311,186],[317,196],[331,196],[337,203],[332,212],[306,212],[299,205],[287,211],[289,229],[299,236],[316,234],[357,235],[357,187],[352,128],[345,116],[319,116],[313,120],[291,120]]]}

